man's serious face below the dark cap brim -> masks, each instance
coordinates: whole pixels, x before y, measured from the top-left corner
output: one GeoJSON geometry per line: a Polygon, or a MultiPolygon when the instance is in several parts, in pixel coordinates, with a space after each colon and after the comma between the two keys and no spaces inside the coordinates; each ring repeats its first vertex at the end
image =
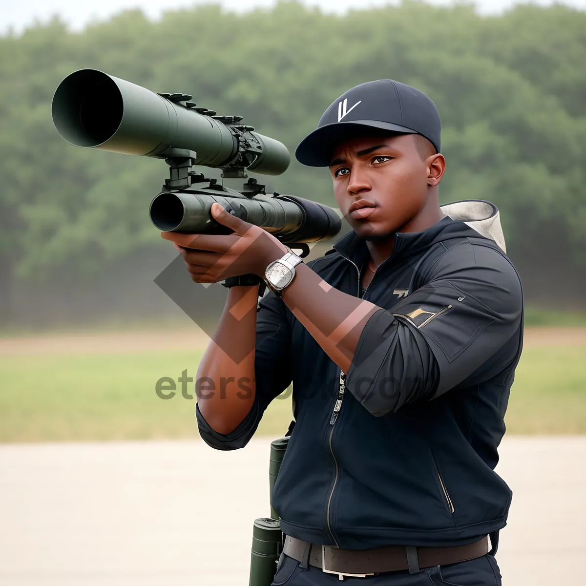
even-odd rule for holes
{"type": "Polygon", "coordinates": [[[349,139],[329,169],[340,211],[365,240],[400,231],[425,206],[430,169],[411,134],[349,139]]]}

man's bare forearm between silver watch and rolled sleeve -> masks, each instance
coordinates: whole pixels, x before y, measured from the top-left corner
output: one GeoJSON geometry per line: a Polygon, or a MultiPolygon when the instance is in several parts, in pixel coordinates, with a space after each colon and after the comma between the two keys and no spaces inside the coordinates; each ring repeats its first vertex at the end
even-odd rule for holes
{"type": "Polygon", "coordinates": [[[360,333],[379,306],[331,287],[307,265],[296,267],[282,299],[323,351],[347,373],[360,333]]]}

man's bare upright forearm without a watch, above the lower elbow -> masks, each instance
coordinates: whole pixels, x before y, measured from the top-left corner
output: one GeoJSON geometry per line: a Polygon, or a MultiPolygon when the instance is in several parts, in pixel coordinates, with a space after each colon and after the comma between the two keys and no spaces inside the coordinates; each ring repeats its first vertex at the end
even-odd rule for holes
{"type": "Polygon", "coordinates": [[[197,404],[210,427],[233,431],[253,406],[258,285],[231,287],[197,369],[197,404]]]}

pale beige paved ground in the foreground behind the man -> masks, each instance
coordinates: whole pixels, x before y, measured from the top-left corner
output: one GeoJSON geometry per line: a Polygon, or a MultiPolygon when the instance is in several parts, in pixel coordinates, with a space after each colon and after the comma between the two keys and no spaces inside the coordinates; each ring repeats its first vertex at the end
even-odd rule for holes
{"type": "MultiPolygon", "coordinates": [[[[1,445],[0,585],[246,586],[269,442],[1,445]]],[[[515,493],[503,584],[584,584],[586,437],[512,437],[500,452],[515,493]]]]}

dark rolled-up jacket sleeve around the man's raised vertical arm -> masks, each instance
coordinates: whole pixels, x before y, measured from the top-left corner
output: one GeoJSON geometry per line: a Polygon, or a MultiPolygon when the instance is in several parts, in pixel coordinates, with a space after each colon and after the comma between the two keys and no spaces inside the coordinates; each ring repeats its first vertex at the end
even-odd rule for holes
{"type": "Polygon", "coordinates": [[[260,301],[254,355],[256,391],[253,406],[238,427],[229,434],[219,434],[207,424],[196,404],[199,433],[212,448],[230,450],[248,444],[268,404],[291,384],[291,329],[286,311],[282,299],[272,291],[260,301]]]}

